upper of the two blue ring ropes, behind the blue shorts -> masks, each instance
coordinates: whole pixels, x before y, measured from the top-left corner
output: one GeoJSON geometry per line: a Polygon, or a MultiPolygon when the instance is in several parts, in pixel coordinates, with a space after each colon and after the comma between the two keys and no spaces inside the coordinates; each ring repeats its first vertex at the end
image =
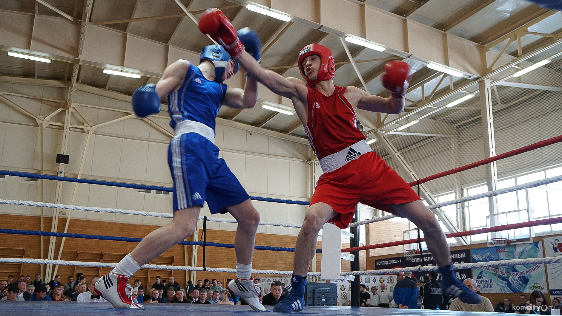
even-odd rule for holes
{"type": "MultiPolygon", "coordinates": [[[[174,189],[165,186],[152,186],[152,185],[140,185],[140,184],[128,184],[121,182],[111,182],[111,181],[99,181],[99,180],[89,180],[89,179],[78,179],[69,177],[58,177],[49,175],[37,175],[36,173],[25,173],[25,172],[13,172],[0,170],[0,175],[15,176],[15,177],[27,177],[27,178],[37,178],[45,180],[56,180],[56,181],[67,181],[67,182],[77,182],[85,184],[98,184],[98,185],[108,185],[108,186],[120,186],[128,187],[129,189],[145,189],[145,190],[157,190],[165,192],[173,192],[174,189]]],[[[259,196],[250,196],[250,199],[255,201],[266,201],[274,203],[285,203],[285,204],[297,204],[297,205],[310,205],[306,201],[295,201],[295,200],[282,200],[282,199],[272,199],[272,198],[261,198],[259,196]]]]}

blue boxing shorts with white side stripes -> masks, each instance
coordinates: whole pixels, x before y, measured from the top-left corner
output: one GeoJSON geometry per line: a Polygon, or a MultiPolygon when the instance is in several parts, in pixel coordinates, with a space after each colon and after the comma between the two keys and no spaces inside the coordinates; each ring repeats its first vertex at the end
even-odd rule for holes
{"type": "Polygon", "coordinates": [[[219,158],[219,148],[205,137],[188,132],[176,135],[168,148],[168,165],[174,180],[174,212],[200,206],[211,214],[250,198],[238,178],[219,158]]]}

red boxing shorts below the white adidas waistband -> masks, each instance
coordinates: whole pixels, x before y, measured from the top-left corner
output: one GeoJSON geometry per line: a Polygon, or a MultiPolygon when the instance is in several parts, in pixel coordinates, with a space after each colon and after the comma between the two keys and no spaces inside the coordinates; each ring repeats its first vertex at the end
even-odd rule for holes
{"type": "Polygon", "coordinates": [[[310,205],[324,202],[339,213],[330,223],[345,229],[350,225],[357,203],[396,214],[393,204],[420,200],[419,196],[388,167],[375,152],[346,163],[332,172],[324,173],[310,199],[310,205]]]}

